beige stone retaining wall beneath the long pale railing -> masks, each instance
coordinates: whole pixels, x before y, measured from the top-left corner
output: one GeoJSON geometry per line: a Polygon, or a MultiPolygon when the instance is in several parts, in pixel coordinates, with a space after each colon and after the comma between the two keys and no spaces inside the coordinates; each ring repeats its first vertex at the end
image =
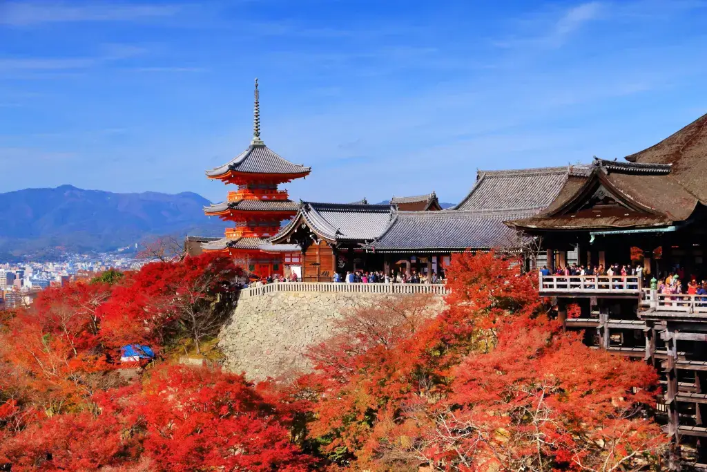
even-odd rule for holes
{"type": "Polygon", "coordinates": [[[242,297],[219,335],[224,367],[252,380],[306,371],[311,366],[303,352],[332,335],[334,320],[383,297],[410,295],[275,292],[242,297]]]}

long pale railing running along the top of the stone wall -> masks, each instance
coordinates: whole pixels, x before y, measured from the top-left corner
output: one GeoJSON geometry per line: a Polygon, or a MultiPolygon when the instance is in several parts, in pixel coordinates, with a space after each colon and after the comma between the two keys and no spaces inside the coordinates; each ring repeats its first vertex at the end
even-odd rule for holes
{"type": "Polygon", "coordinates": [[[357,294],[433,294],[449,291],[443,284],[349,284],[344,282],[273,282],[240,291],[241,297],[256,297],[274,292],[341,292],[357,294]]]}

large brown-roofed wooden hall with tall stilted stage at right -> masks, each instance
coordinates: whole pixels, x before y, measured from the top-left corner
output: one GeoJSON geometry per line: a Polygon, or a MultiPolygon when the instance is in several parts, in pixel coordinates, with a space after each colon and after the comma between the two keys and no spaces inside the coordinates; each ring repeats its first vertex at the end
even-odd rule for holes
{"type": "Polygon", "coordinates": [[[707,278],[707,115],[623,161],[596,159],[546,209],[508,226],[542,238],[550,266],[640,265],[638,276],[539,276],[568,329],[585,343],[650,362],[662,376],[658,420],[670,470],[707,470],[707,297],[665,294],[649,281],[707,278]],[[580,315],[566,318],[577,304],[580,315]]]}

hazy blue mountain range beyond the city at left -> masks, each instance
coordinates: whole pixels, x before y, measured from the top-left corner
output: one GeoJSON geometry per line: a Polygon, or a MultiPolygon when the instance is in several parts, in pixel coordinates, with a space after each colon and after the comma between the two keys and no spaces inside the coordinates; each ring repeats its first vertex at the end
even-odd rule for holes
{"type": "Polygon", "coordinates": [[[220,236],[209,200],[192,192],[113,193],[71,185],[0,193],[0,260],[115,251],[156,236],[220,236]]]}

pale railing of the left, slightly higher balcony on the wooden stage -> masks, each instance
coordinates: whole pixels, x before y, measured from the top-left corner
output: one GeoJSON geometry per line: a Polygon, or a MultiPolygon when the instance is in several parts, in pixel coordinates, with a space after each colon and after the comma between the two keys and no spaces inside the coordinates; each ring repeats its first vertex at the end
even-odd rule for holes
{"type": "Polygon", "coordinates": [[[539,275],[540,294],[613,293],[636,294],[641,291],[637,275],[539,275]]]}

